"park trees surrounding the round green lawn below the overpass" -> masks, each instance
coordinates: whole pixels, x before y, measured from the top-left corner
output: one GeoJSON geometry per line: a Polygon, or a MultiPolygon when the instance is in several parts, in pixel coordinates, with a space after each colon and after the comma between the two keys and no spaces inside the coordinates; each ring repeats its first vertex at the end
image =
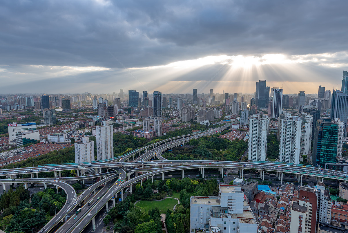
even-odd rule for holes
{"type": "Polygon", "coordinates": [[[127,196],[116,207],[113,207],[106,216],[105,224],[111,220],[114,223],[114,230],[120,233],[161,233],[162,223],[160,221],[159,210],[151,209],[148,212],[134,206],[135,197],[147,199],[150,195],[149,190],[158,189],[171,194],[173,191],[180,191],[180,203],[174,212],[167,210],[165,223],[168,233],[184,233],[189,230],[190,221],[190,196],[208,196],[218,194],[218,185],[215,179],[190,179],[181,180],[172,178],[166,180],[155,180],[153,183],[149,179],[143,182],[143,186],[137,184],[133,186],[135,192],[127,196]],[[108,217],[109,216],[109,217],[108,217]]]}

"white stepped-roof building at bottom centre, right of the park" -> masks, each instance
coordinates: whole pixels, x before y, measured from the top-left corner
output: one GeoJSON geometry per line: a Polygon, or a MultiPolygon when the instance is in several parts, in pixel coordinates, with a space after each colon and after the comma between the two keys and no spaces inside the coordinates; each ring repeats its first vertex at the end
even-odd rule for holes
{"type": "Polygon", "coordinates": [[[190,197],[189,232],[256,233],[258,224],[237,185],[220,185],[219,196],[190,197]]]}

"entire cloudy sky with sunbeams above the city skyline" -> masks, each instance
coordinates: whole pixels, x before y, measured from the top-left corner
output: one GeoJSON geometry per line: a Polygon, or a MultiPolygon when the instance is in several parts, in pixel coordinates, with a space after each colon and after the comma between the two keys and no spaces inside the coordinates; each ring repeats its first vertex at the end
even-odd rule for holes
{"type": "Polygon", "coordinates": [[[0,93],[253,93],[259,79],[284,93],[340,89],[347,8],[345,0],[2,0],[0,93]]]}

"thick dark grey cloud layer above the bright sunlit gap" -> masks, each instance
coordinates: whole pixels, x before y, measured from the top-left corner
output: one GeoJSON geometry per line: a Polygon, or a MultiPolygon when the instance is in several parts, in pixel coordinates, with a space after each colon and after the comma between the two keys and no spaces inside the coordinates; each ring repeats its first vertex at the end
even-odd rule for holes
{"type": "Polygon", "coordinates": [[[2,1],[1,64],[146,67],[346,50],[346,1],[2,1]]]}

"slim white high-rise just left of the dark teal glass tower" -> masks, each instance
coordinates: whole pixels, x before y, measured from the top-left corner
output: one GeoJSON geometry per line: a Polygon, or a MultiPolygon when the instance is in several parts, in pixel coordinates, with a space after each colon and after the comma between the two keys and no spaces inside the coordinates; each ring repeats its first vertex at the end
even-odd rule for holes
{"type": "Polygon", "coordinates": [[[308,155],[310,153],[310,146],[312,143],[312,126],[313,116],[303,114],[301,129],[301,155],[308,155]]]}

